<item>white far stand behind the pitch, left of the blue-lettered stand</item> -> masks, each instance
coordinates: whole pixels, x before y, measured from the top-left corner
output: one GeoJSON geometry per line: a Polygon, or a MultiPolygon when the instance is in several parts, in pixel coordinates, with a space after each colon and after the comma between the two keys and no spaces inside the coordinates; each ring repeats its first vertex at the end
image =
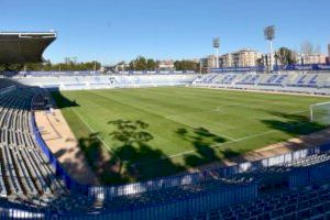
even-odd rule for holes
{"type": "MultiPolygon", "coordinates": [[[[47,73],[50,74],[50,73],[47,73]]],[[[40,74],[42,75],[42,74],[40,74]]],[[[44,77],[22,77],[22,74],[14,77],[21,84],[38,86],[47,89],[61,90],[84,90],[84,89],[110,89],[110,88],[134,88],[154,86],[179,86],[187,85],[197,78],[197,74],[133,74],[133,75],[105,75],[90,76],[86,73],[72,73],[63,76],[53,73],[44,77]]]]}

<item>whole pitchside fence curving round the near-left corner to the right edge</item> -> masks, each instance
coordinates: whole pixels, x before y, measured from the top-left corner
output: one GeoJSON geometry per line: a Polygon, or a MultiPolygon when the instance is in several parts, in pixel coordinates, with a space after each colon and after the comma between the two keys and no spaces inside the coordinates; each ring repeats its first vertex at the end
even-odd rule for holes
{"type": "MultiPolygon", "coordinates": [[[[33,102],[33,101],[32,101],[33,102]]],[[[155,178],[142,183],[124,184],[124,185],[114,185],[114,186],[88,186],[76,183],[62,167],[61,163],[50,151],[45,142],[43,141],[37,127],[35,124],[34,113],[32,113],[32,131],[34,133],[35,140],[40,145],[43,153],[50,160],[50,163],[56,170],[56,175],[62,178],[67,188],[75,191],[81,191],[87,194],[89,197],[101,198],[101,199],[112,199],[118,196],[128,196],[134,194],[141,194],[145,191],[162,190],[165,188],[198,184],[205,180],[213,179],[217,177],[229,177],[239,173],[255,170],[263,167],[270,167],[274,165],[280,165],[287,162],[295,160],[304,158],[309,155],[329,151],[330,143],[326,143],[320,146],[309,147],[305,150],[299,150],[296,152],[289,152],[278,156],[273,156],[268,158],[263,158],[254,162],[244,162],[234,166],[219,167],[213,169],[208,169],[204,172],[193,173],[193,174],[183,174],[172,177],[162,177],[155,178]]]]}

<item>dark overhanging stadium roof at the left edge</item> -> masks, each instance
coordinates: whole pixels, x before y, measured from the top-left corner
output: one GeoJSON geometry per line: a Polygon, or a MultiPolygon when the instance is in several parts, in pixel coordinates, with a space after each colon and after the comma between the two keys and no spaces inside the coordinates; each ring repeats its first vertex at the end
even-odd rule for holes
{"type": "Polygon", "coordinates": [[[43,62],[42,54],[55,40],[55,32],[0,32],[0,64],[43,62]]]}

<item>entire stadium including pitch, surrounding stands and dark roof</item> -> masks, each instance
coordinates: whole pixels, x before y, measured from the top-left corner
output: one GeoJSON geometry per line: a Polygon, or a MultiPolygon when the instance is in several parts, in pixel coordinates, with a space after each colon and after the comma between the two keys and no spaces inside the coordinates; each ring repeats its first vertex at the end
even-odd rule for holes
{"type": "Polygon", "coordinates": [[[4,73],[0,218],[328,219],[329,66],[277,68],[4,73]]]}

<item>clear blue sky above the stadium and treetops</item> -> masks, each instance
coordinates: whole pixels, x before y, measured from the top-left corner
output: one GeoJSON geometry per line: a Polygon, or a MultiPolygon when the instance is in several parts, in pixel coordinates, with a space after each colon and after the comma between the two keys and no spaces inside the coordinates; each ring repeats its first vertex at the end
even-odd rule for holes
{"type": "Polygon", "coordinates": [[[329,0],[0,0],[0,31],[56,30],[44,56],[103,64],[138,55],[194,58],[242,47],[266,52],[263,28],[276,26],[275,47],[304,41],[327,52],[329,0]]]}

